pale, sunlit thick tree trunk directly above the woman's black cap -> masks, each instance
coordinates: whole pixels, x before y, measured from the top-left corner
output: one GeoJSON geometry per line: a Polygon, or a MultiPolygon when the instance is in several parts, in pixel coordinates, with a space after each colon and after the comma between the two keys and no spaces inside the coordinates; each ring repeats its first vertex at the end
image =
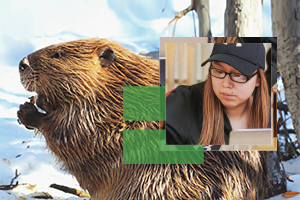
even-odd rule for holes
{"type": "Polygon", "coordinates": [[[225,36],[261,37],[263,0],[227,0],[225,36]]]}

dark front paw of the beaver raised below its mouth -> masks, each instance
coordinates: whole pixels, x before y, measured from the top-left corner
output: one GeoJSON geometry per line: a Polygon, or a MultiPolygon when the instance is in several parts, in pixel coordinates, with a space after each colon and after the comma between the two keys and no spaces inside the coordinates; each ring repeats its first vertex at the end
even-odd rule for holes
{"type": "Polygon", "coordinates": [[[28,102],[20,105],[17,114],[20,122],[28,129],[38,129],[46,116],[46,114],[40,113],[32,103],[28,102]]]}

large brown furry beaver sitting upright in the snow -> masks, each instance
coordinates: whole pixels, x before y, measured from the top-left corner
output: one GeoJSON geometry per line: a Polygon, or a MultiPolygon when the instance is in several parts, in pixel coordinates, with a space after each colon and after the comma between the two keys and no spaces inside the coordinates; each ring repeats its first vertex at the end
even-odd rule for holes
{"type": "Polygon", "coordinates": [[[106,39],[38,50],[19,64],[21,83],[37,93],[18,118],[92,199],[263,199],[268,176],[256,151],[205,152],[204,164],[123,164],[123,130],[156,129],[123,121],[123,86],[158,86],[158,62],[106,39]]]}

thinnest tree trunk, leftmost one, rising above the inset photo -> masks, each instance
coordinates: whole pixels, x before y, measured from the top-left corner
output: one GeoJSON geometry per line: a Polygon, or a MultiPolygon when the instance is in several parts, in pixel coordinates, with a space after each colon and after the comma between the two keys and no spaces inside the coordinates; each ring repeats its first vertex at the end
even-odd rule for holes
{"type": "Polygon", "coordinates": [[[192,0],[199,19],[199,37],[211,37],[209,0],[192,0]]]}

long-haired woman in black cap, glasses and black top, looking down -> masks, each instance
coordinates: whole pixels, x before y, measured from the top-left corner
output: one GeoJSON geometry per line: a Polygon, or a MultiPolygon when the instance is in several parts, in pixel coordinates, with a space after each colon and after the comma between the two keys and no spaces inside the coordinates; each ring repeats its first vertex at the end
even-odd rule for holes
{"type": "Polygon", "coordinates": [[[267,128],[270,98],[262,43],[216,43],[206,81],[166,100],[167,144],[228,144],[232,129],[267,128]]]}

